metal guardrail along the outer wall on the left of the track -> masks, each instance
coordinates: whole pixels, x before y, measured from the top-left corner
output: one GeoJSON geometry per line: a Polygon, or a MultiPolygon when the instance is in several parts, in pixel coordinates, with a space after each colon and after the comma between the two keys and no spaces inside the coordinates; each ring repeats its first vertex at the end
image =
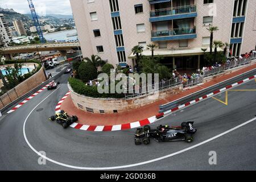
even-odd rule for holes
{"type": "Polygon", "coordinates": [[[35,92],[37,92],[40,88],[43,88],[44,86],[46,86],[47,84],[49,84],[49,82],[59,78],[61,75],[63,75],[63,73],[65,72],[65,70],[67,68],[71,68],[72,65],[68,65],[67,67],[65,67],[63,69],[63,71],[57,73],[57,75],[53,76],[52,78],[49,78],[48,80],[46,80],[45,82],[43,82],[42,84],[36,86],[36,88],[32,89],[30,92],[27,92],[26,94],[24,94],[23,96],[19,97],[18,99],[16,99],[15,101],[11,102],[9,105],[6,105],[5,107],[3,107],[0,111],[2,113],[2,115],[6,114],[9,110],[13,109],[13,107],[17,104],[19,104],[19,102],[22,102],[24,99],[26,99],[27,97],[31,96],[32,94],[34,94],[35,92]]]}

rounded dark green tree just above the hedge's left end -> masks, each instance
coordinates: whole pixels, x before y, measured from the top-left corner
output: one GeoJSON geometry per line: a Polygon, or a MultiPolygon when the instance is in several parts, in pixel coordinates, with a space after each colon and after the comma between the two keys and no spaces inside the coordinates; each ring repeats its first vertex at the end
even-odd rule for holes
{"type": "Polygon", "coordinates": [[[97,69],[91,63],[83,62],[79,66],[78,74],[83,82],[88,82],[97,78],[97,69]]]}

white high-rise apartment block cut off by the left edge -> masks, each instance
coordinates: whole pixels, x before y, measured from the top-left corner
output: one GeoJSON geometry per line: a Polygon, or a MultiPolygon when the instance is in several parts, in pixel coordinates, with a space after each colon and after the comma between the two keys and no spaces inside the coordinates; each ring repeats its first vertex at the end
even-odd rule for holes
{"type": "Polygon", "coordinates": [[[3,14],[0,14],[0,47],[8,47],[11,42],[11,32],[3,14]]]}

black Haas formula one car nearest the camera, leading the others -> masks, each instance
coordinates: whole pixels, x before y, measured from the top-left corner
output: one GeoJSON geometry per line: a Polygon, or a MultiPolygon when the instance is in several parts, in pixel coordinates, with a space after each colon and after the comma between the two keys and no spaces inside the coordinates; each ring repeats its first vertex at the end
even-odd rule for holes
{"type": "Polygon", "coordinates": [[[155,130],[151,130],[150,126],[146,125],[139,128],[134,135],[135,145],[150,144],[150,138],[156,142],[172,142],[172,141],[185,141],[193,142],[193,134],[196,129],[193,127],[194,122],[183,122],[181,126],[157,126],[155,130]]]}

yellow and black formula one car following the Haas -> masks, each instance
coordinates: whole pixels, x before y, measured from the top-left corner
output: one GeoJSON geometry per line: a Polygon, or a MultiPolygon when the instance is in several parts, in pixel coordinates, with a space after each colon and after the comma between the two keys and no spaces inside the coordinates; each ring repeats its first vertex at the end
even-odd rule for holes
{"type": "Polygon", "coordinates": [[[78,121],[76,115],[69,116],[68,113],[65,113],[64,110],[61,110],[60,113],[52,115],[49,120],[55,121],[62,125],[64,129],[67,129],[68,126],[72,125],[74,122],[78,121]]]}

